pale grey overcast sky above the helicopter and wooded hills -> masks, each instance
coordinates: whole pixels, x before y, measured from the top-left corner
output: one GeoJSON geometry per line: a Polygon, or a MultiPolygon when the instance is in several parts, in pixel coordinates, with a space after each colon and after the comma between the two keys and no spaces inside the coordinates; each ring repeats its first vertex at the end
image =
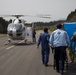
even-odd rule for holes
{"type": "Polygon", "coordinates": [[[51,15],[51,19],[22,17],[27,22],[50,22],[66,19],[68,14],[75,9],[76,0],[0,0],[0,15],[51,15]]]}

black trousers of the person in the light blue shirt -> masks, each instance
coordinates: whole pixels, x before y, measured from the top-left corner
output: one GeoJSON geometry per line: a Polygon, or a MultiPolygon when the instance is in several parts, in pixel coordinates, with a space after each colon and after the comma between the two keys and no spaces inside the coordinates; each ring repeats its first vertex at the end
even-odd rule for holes
{"type": "Polygon", "coordinates": [[[54,58],[56,61],[57,72],[59,72],[59,69],[61,69],[63,71],[64,70],[64,61],[66,58],[66,46],[55,47],[54,58]]]}

